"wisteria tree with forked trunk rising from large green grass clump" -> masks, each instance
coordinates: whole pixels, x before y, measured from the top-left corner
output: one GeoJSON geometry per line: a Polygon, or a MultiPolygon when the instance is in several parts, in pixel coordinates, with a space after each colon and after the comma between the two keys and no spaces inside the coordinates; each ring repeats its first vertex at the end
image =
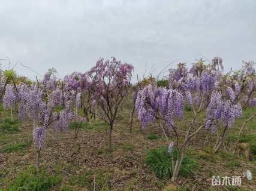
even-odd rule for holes
{"type": "Polygon", "coordinates": [[[195,124],[195,121],[199,113],[208,106],[215,84],[216,73],[206,71],[200,76],[193,76],[192,72],[188,72],[185,64],[181,63],[177,69],[170,70],[169,89],[148,85],[138,91],[136,100],[138,119],[143,128],[154,120],[161,127],[173,164],[172,181],[176,181],[191,138],[205,127],[205,122],[195,124]],[[186,125],[184,133],[180,130],[179,123],[176,124],[174,121],[183,118],[185,101],[191,105],[194,115],[191,122],[186,125]],[[183,141],[179,143],[181,137],[183,141]],[[178,150],[176,159],[172,155],[173,146],[178,150]]]}

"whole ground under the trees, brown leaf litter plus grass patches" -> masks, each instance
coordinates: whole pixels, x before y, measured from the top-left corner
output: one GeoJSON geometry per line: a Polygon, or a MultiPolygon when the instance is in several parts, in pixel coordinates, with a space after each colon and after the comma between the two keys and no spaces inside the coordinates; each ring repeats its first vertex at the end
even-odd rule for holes
{"type": "MultiPolygon", "coordinates": [[[[142,130],[135,118],[129,132],[131,104],[125,100],[118,115],[112,153],[108,150],[107,125],[100,119],[82,125],[75,145],[72,124],[65,134],[53,134],[50,128],[41,153],[40,174],[35,170],[32,121],[11,122],[10,112],[1,110],[0,190],[255,190],[256,179],[248,181],[245,177],[242,186],[211,186],[213,175],[232,177],[250,170],[255,177],[256,161],[252,156],[246,159],[237,155],[237,147],[248,143],[254,152],[250,154],[256,155],[256,119],[246,124],[246,135],[239,138],[236,134],[243,119],[255,109],[246,110],[242,118],[236,119],[219,153],[211,152],[212,145],[205,141],[207,131],[197,134],[189,145],[182,175],[173,184],[150,170],[154,161],[147,158],[149,150],[166,146],[158,124],[142,130]]],[[[188,123],[191,116],[192,111],[185,109],[180,123],[188,123]]],[[[159,157],[162,165],[168,165],[165,156],[159,157]]]]}

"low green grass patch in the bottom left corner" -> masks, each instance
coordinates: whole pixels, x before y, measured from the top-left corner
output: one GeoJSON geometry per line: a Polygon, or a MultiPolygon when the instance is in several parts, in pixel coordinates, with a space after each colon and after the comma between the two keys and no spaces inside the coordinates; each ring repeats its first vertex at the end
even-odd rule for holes
{"type": "Polygon", "coordinates": [[[4,191],[47,191],[62,181],[61,175],[47,175],[46,172],[20,172],[4,191]]]}

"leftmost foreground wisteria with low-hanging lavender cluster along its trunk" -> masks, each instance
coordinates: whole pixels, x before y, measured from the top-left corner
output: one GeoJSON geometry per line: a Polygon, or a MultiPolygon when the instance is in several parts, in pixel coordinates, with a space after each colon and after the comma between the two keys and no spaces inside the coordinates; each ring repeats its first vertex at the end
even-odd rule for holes
{"type": "Polygon", "coordinates": [[[50,69],[44,75],[43,81],[37,81],[37,84],[7,85],[4,95],[5,107],[19,106],[19,118],[34,121],[32,134],[37,147],[37,171],[47,128],[52,124],[55,133],[62,132],[67,130],[71,119],[77,118],[76,108],[80,94],[70,91],[67,85],[58,83],[55,73],[55,69],[50,69]]]}

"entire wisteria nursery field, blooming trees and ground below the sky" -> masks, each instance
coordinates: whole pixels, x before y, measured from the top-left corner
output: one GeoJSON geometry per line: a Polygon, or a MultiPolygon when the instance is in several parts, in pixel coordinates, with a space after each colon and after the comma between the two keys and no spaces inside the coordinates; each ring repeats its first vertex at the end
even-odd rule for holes
{"type": "Polygon", "coordinates": [[[1,71],[0,190],[256,190],[254,65],[200,59],[134,84],[115,57],[64,78],[1,71]]]}

